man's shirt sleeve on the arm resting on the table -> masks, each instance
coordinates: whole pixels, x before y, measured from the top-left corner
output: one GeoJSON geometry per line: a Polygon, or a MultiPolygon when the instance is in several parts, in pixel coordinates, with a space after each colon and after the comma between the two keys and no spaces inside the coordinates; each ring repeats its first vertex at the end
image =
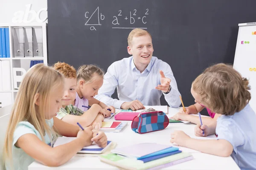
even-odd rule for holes
{"type": "Polygon", "coordinates": [[[107,73],[104,76],[103,85],[99,89],[99,94],[95,96],[96,99],[105,103],[106,105],[114,106],[115,108],[121,108],[121,105],[125,101],[111,98],[118,85],[119,78],[119,66],[118,62],[114,62],[108,68],[107,73]]]}

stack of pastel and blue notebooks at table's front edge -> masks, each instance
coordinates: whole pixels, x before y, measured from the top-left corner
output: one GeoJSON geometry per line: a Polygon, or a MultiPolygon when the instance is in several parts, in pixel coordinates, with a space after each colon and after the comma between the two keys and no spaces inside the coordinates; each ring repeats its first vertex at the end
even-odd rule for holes
{"type": "Polygon", "coordinates": [[[111,150],[99,156],[102,162],[125,170],[162,169],[193,159],[177,147],[157,143],[140,143],[111,150]]]}

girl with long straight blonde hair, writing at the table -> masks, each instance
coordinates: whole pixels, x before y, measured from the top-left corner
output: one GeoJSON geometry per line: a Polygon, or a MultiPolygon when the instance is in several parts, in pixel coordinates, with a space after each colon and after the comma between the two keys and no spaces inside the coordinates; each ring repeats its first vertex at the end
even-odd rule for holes
{"type": "Polygon", "coordinates": [[[104,133],[93,130],[93,127],[79,130],[78,126],[55,117],[61,108],[63,92],[64,77],[58,71],[37,64],[26,73],[6,131],[3,156],[7,170],[25,170],[35,160],[47,166],[59,166],[93,141],[105,146],[107,138],[104,133]],[[51,147],[56,132],[77,138],[51,147]]]}

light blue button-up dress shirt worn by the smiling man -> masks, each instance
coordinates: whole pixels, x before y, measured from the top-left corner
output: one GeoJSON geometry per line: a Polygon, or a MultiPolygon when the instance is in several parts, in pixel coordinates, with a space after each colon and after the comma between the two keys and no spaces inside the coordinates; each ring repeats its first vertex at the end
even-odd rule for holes
{"type": "Polygon", "coordinates": [[[143,105],[160,105],[162,94],[171,107],[180,106],[180,92],[170,65],[157,57],[152,57],[147,68],[140,73],[134,65],[133,57],[129,57],[113,62],[109,66],[103,85],[95,98],[106,105],[120,108],[122,103],[136,99],[143,105]],[[155,89],[161,84],[160,70],[163,71],[165,77],[171,79],[172,89],[169,94],[163,94],[162,91],[155,89]],[[119,100],[111,98],[116,88],[119,100]]]}

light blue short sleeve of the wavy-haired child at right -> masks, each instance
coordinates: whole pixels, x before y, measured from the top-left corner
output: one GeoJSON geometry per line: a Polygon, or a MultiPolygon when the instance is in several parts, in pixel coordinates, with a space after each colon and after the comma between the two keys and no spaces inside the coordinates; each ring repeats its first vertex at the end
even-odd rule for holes
{"type": "Polygon", "coordinates": [[[217,139],[224,139],[232,144],[235,153],[237,152],[237,147],[245,142],[244,135],[232,120],[219,121],[216,126],[216,133],[218,135],[217,139]]]}

